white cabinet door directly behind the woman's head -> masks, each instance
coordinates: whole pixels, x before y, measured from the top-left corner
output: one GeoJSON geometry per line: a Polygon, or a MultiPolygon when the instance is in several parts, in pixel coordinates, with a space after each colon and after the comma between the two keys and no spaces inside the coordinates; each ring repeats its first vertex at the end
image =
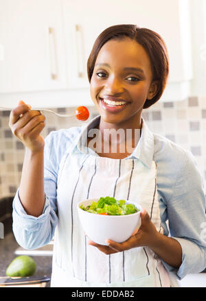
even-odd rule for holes
{"type": "Polygon", "coordinates": [[[98,35],[111,25],[137,24],[159,33],[168,46],[169,82],[192,78],[187,0],[63,0],[69,86],[89,87],[87,59],[98,35]]]}

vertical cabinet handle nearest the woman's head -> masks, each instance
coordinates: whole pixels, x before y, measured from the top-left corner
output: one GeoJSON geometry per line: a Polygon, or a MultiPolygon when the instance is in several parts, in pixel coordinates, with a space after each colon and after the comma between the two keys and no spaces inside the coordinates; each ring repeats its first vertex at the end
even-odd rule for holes
{"type": "Polygon", "coordinates": [[[76,53],[77,53],[78,77],[84,77],[82,30],[81,30],[80,25],[75,25],[75,32],[76,32],[76,53]]]}

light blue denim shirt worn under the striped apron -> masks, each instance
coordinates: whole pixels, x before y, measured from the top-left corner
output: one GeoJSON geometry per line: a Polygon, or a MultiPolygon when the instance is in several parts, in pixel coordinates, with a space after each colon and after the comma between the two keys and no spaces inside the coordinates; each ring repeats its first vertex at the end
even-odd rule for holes
{"type": "MultiPolygon", "coordinates": [[[[95,128],[99,122],[100,116],[95,117],[86,127],[88,130],[95,128]]],[[[25,249],[40,248],[54,236],[58,223],[56,183],[60,161],[83,129],[84,126],[57,130],[50,132],[45,139],[45,206],[42,215],[27,215],[19,200],[19,189],[16,191],[13,231],[16,241],[25,249]]],[[[98,156],[93,149],[88,148],[88,152],[98,156]]],[[[161,226],[164,234],[179,241],[182,248],[179,269],[165,262],[163,265],[179,279],[187,274],[202,272],[206,267],[205,193],[194,156],[176,143],[152,133],[143,119],[141,138],[127,158],[141,160],[148,167],[152,160],[157,163],[161,226]]]]}

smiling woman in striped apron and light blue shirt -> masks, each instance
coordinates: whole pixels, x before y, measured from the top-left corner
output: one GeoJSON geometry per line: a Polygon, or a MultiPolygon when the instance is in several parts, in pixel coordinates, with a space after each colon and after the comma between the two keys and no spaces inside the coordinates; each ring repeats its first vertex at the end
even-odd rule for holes
{"type": "Polygon", "coordinates": [[[16,241],[38,248],[56,230],[53,287],[176,286],[176,279],[205,268],[205,195],[190,152],[153,134],[141,117],[168,79],[165,43],[136,25],[108,27],[95,41],[87,67],[100,115],[84,130],[52,132],[44,142],[40,112],[24,103],[11,112],[10,128],[26,149],[14,198],[16,241]],[[96,148],[91,130],[99,133],[96,148]],[[121,130],[126,139],[108,139],[109,130],[121,130]],[[98,245],[80,226],[76,204],[106,195],[144,208],[141,227],[124,243],[98,245]]]}

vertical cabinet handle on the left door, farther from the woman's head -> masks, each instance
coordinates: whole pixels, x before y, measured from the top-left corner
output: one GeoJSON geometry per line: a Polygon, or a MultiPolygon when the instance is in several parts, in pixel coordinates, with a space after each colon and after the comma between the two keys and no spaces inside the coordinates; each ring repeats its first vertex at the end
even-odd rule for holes
{"type": "Polygon", "coordinates": [[[57,80],[56,40],[52,27],[49,27],[49,56],[51,78],[57,80]]]}

